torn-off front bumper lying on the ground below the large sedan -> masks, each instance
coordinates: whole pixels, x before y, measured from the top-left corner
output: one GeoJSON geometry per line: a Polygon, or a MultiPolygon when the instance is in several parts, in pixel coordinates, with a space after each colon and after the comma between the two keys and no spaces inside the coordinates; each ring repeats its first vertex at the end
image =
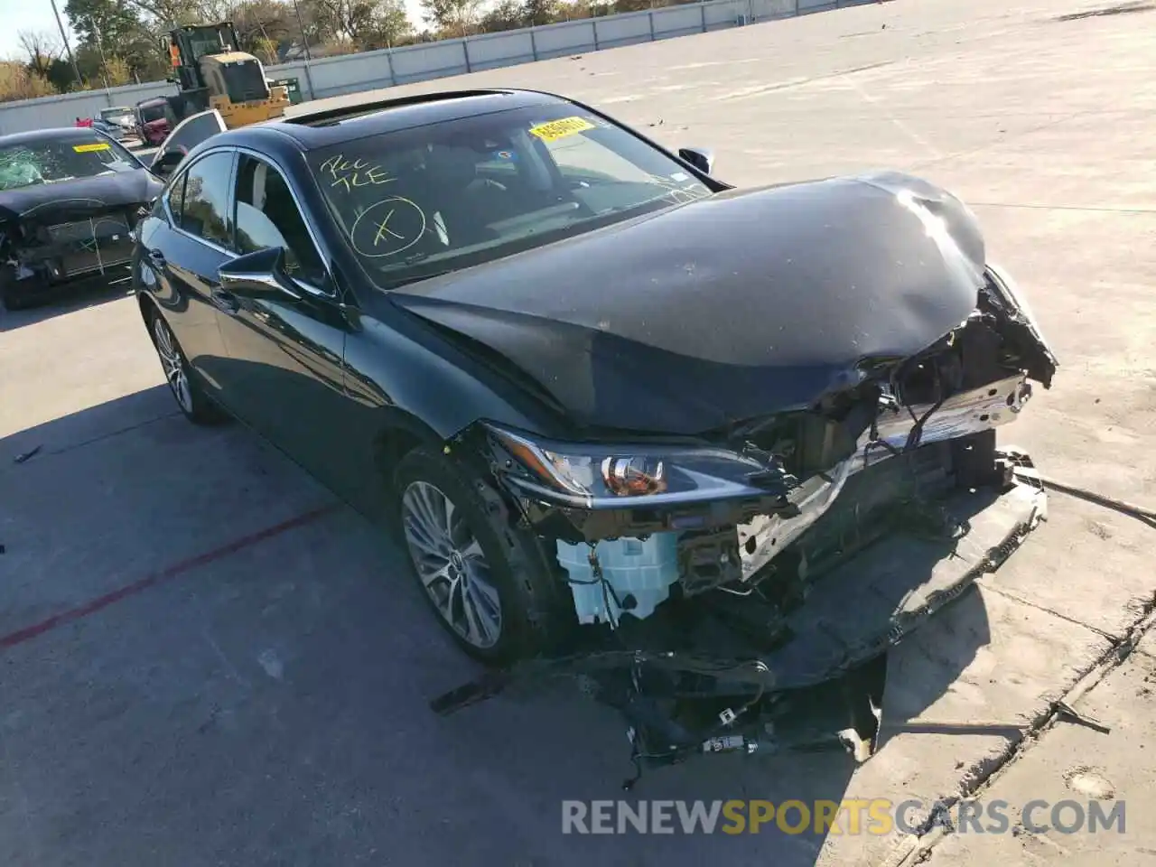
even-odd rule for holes
{"type": "MultiPolygon", "coordinates": [[[[889,461],[892,472],[911,457],[889,461]]],[[[927,498],[910,502],[887,527],[844,536],[845,550],[827,571],[822,543],[802,546],[814,562],[792,600],[783,598],[783,583],[768,579],[743,595],[676,600],[645,621],[623,618],[572,654],[490,673],[431,707],[447,714],[506,689],[568,677],[622,714],[639,770],[703,754],[824,748],[865,761],[879,747],[889,649],[1046,520],[1042,486],[1016,472],[1030,468],[1030,459],[1014,450],[991,457],[995,473],[986,484],[977,487],[976,465],[958,458],[953,481],[962,484],[936,488],[925,477],[927,498]]]]}

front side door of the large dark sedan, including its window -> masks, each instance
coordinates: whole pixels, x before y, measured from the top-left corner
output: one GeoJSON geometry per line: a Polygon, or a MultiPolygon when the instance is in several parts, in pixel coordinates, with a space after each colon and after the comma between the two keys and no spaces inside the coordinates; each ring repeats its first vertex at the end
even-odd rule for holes
{"type": "Polygon", "coordinates": [[[281,276],[292,292],[271,291],[259,274],[247,282],[232,276],[224,289],[221,328],[239,385],[237,414],[342,492],[362,474],[335,447],[335,432],[354,409],[342,384],[348,320],[284,173],[242,151],[235,177],[234,250],[280,247],[281,276]]]}

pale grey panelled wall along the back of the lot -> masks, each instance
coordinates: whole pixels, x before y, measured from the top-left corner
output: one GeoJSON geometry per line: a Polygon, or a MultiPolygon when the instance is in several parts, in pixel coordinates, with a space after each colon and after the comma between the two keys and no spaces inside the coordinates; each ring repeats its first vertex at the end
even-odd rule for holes
{"type": "MultiPolygon", "coordinates": [[[[295,77],[306,99],[324,99],[360,90],[375,90],[415,81],[548,60],[568,54],[635,45],[654,39],[702,34],[729,27],[858,6],[873,0],[706,0],[666,6],[600,18],[565,21],[544,27],[483,34],[464,39],[406,45],[386,51],[321,58],[310,64],[266,67],[272,79],[295,77]]],[[[0,105],[0,134],[53,126],[71,126],[111,105],[135,105],[141,99],[176,89],[150,82],[104,91],[65,94],[0,105]]]]}

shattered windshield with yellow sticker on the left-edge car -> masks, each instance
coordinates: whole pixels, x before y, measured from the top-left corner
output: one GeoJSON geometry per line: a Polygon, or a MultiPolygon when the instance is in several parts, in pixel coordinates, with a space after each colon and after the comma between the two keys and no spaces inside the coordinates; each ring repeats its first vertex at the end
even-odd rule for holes
{"type": "Polygon", "coordinates": [[[123,147],[96,136],[9,144],[0,148],[0,191],[140,168],[123,147]]]}

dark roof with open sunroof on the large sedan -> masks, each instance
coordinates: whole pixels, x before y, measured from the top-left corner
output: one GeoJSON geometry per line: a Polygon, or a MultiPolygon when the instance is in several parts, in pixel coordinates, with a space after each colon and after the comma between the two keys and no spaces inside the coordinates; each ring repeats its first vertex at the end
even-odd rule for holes
{"type": "Polygon", "coordinates": [[[268,141],[269,136],[282,140],[288,136],[296,142],[298,149],[313,150],[444,120],[568,103],[564,97],[536,90],[436,91],[302,112],[289,118],[230,129],[213,136],[212,141],[215,144],[243,146],[268,141]],[[228,142],[222,136],[228,136],[228,142]]]}

